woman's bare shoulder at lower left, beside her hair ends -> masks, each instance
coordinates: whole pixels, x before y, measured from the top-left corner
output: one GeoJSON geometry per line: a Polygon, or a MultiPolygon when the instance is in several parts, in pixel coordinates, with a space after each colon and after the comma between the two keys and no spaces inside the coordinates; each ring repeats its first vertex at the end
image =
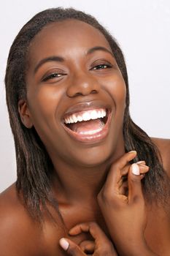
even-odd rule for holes
{"type": "Polygon", "coordinates": [[[0,195],[0,227],[1,256],[40,255],[41,232],[20,203],[15,184],[0,195]]]}

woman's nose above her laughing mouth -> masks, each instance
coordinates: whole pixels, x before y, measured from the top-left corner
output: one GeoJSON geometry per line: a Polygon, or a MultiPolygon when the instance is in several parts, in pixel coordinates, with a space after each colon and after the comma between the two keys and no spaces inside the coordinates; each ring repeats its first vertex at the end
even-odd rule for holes
{"type": "Polygon", "coordinates": [[[68,97],[78,95],[87,96],[88,94],[97,94],[100,89],[98,81],[88,74],[74,75],[67,88],[68,97]]]}

